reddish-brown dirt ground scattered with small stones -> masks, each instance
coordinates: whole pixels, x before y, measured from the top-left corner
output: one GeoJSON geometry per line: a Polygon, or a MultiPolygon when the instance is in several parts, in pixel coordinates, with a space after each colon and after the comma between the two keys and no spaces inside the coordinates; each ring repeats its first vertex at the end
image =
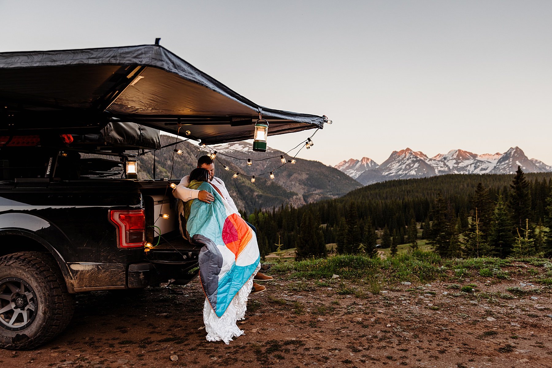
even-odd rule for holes
{"type": "Polygon", "coordinates": [[[552,367],[550,291],[529,282],[515,273],[397,282],[374,295],[351,280],[279,278],[251,296],[238,325],[246,334],[229,345],[205,340],[197,279],[174,287],[182,294],[93,292],[78,296],[59,337],[33,351],[0,350],[0,366],[552,367]],[[457,289],[468,284],[473,294],[457,289]]]}

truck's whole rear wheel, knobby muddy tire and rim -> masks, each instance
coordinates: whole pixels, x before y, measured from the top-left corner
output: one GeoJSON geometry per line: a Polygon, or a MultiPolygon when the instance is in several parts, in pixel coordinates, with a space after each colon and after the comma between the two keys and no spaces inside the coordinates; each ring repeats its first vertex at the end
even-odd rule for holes
{"type": "Polygon", "coordinates": [[[75,300],[50,254],[0,257],[0,348],[46,343],[67,327],[74,311],[75,300]]]}

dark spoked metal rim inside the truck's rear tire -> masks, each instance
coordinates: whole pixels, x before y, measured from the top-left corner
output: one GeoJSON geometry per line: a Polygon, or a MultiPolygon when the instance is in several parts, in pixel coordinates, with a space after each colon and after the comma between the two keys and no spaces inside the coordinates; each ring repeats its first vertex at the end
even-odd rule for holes
{"type": "Polygon", "coordinates": [[[19,278],[0,280],[0,326],[19,331],[33,323],[37,310],[36,293],[19,278]]]}

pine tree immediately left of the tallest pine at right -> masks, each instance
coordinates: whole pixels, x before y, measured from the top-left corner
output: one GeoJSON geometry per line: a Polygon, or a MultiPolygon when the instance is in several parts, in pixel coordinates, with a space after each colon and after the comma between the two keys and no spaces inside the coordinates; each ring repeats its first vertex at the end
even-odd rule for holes
{"type": "Polygon", "coordinates": [[[512,228],[512,220],[506,204],[502,200],[502,196],[498,196],[491,221],[491,233],[489,234],[489,246],[493,255],[506,258],[512,253],[514,243],[512,228]]]}

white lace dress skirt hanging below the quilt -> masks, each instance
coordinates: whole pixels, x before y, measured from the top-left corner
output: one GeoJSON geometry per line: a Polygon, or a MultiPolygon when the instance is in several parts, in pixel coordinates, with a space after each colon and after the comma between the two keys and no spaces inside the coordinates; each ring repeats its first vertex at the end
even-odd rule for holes
{"type": "Polygon", "coordinates": [[[247,298],[253,287],[253,278],[261,268],[261,263],[251,275],[249,280],[238,291],[236,296],[230,302],[226,312],[222,317],[217,317],[213,308],[209,304],[209,300],[205,298],[203,303],[203,322],[205,323],[205,331],[207,332],[207,341],[224,341],[229,344],[233,337],[238,337],[243,334],[243,330],[239,329],[236,321],[243,319],[247,310],[247,298]]]}

